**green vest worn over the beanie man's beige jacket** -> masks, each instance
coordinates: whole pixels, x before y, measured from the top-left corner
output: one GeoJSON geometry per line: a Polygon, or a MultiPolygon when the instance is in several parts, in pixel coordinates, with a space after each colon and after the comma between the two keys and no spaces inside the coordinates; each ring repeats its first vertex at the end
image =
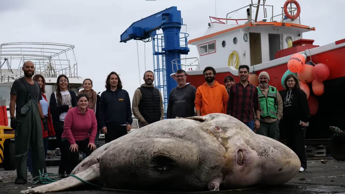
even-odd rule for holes
{"type": "Polygon", "coordinates": [[[261,107],[260,117],[269,116],[277,118],[278,102],[277,102],[277,89],[269,85],[267,98],[261,92],[259,86],[258,89],[259,102],[261,107]]]}

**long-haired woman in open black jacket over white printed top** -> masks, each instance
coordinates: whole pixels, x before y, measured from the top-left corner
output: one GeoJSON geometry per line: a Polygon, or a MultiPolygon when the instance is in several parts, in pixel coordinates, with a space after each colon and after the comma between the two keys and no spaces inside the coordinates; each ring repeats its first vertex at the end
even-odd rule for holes
{"type": "Polygon", "coordinates": [[[66,75],[59,75],[56,81],[56,92],[53,92],[50,96],[50,112],[53,121],[53,126],[56,133],[56,140],[58,147],[60,148],[61,157],[59,165],[59,178],[65,178],[66,172],[66,160],[65,150],[63,149],[61,135],[63,132],[63,123],[67,111],[77,106],[76,93],[69,89],[69,81],[66,75]]]}

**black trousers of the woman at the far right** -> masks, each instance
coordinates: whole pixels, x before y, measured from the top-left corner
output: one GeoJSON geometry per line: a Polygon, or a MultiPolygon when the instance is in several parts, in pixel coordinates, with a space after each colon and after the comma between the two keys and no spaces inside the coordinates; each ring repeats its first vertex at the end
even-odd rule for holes
{"type": "Polygon", "coordinates": [[[299,125],[299,121],[285,120],[283,122],[283,127],[286,131],[286,143],[287,146],[294,151],[300,162],[301,167],[307,168],[307,155],[305,153],[305,129],[299,125]]]}

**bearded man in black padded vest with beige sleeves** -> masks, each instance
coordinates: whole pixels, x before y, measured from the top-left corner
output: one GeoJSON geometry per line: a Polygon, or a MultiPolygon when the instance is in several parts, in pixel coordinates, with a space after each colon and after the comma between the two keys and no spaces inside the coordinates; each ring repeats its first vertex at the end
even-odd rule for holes
{"type": "Polygon", "coordinates": [[[135,90],[132,101],[132,112],[139,120],[139,128],[164,118],[162,94],[154,87],[152,71],[144,73],[145,83],[135,90]]]}

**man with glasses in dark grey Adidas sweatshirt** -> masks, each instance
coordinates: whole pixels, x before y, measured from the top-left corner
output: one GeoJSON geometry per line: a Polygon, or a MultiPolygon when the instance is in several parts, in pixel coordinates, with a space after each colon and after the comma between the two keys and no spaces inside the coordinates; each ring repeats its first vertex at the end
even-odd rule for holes
{"type": "Polygon", "coordinates": [[[177,86],[169,94],[167,119],[175,119],[176,116],[183,118],[195,116],[196,88],[190,83],[186,83],[187,73],[182,69],[176,71],[175,78],[177,86]]]}

